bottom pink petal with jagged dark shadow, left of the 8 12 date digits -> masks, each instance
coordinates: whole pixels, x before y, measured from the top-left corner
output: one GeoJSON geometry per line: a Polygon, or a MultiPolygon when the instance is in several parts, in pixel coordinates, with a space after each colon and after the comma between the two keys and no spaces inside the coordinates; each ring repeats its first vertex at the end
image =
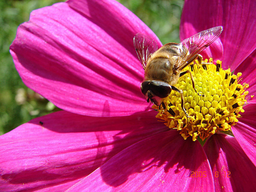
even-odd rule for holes
{"type": "Polygon", "coordinates": [[[176,130],[124,149],[68,191],[214,191],[201,145],[176,130]],[[205,177],[193,177],[204,172],[205,177]]]}

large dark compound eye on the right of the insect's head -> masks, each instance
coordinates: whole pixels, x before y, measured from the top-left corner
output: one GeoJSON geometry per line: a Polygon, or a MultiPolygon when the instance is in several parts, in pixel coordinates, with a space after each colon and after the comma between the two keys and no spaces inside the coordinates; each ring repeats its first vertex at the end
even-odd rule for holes
{"type": "Polygon", "coordinates": [[[153,81],[149,84],[149,89],[158,97],[165,98],[170,95],[171,86],[163,81],[153,81]]]}

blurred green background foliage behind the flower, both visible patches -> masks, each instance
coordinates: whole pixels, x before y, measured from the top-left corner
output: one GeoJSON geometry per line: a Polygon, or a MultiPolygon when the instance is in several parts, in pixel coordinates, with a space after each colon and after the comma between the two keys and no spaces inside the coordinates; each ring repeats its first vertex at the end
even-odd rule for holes
{"type": "MultiPolygon", "coordinates": [[[[179,42],[183,0],[118,1],[144,21],[163,44],[179,42]]],[[[35,117],[60,110],[22,83],[9,53],[17,27],[29,20],[30,12],[57,2],[61,1],[0,0],[0,135],[35,117]]]]}

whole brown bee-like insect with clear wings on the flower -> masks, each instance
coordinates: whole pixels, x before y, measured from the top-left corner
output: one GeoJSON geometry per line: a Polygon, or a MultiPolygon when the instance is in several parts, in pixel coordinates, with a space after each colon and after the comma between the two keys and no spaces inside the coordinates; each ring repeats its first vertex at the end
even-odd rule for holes
{"type": "MultiPolygon", "coordinates": [[[[201,31],[178,43],[168,43],[157,49],[156,42],[148,36],[136,34],[133,44],[142,67],[145,69],[145,78],[140,85],[141,92],[155,105],[161,105],[162,99],[167,97],[172,90],[181,95],[181,108],[189,117],[184,108],[183,91],[174,85],[179,77],[187,73],[191,76],[194,90],[195,83],[189,70],[182,70],[191,64],[196,58],[200,64],[202,56],[199,54],[212,44],[222,32],[222,26],[201,31]]],[[[198,94],[199,96],[203,96],[198,94]]]]}

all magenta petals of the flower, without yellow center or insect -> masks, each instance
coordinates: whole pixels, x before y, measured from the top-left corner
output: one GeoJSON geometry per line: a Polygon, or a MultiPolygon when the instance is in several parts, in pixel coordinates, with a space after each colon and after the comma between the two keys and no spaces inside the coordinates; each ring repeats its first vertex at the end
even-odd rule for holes
{"type": "MultiPolygon", "coordinates": [[[[224,31],[204,57],[242,73],[256,95],[253,2],[186,1],[181,40],[224,31]],[[197,11],[198,10],[198,11],[197,11]]],[[[0,137],[3,191],[253,191],[255,97],[232,126],[202,147],[155,118],[140,91],[136,33],[156,35],[113,0],[70,0],[33,11],[10,52],[23,82],[63,111],[0,137]]]]}

